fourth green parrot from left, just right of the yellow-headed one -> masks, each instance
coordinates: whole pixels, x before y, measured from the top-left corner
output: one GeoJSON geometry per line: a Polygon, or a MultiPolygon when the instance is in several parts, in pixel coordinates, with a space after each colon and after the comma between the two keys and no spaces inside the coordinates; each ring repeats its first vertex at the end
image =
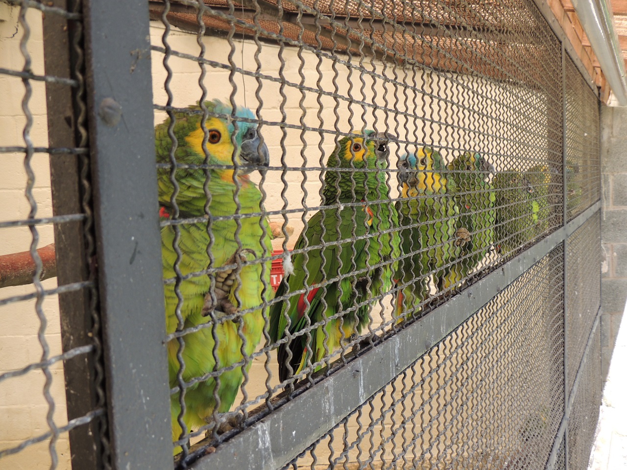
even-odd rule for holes
{"type": "Polygon", "coordinates": [[[496,195],[492,184],[486,181],[495,169],[481,154],[463,152],[448,164],[448,179],[455,182],[455,202],[460,210],[458,227],[470,231],[461,239],[460,259],[446,266],[438,288],[444,290],[457,285],[475,269],[494,241],[496,195]]]}

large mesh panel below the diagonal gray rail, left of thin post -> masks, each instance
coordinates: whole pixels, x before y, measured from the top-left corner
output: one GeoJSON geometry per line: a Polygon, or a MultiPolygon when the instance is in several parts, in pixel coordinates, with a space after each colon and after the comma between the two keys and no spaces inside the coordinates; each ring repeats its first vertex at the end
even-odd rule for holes
{"type": "Polygon", "coordinates": [[[564,410],[556,248],[285,468],[544,469],[564,410]]]}

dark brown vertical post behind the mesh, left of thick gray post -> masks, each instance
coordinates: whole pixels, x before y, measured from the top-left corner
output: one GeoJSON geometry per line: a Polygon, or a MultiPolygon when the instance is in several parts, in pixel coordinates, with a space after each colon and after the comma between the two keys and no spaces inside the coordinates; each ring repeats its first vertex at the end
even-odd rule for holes
{"type": "MultiPolygon", "coordinates": [[[[54,0],[50,6],[73,11],[73,0],[54,0]]],[[[47,75],[75,78],[77,58],[73,43],[76,21],[61,15],[43,15],[44,65],[47,75]]],[[[48,142],[50,147],[72,148],[81,145],[75,111],[76,89],[60,83],[46,82],[48,142]]],[[[50,157],[50,181],[53,214],[80,214],[82,185],[80,156],[55,154],[50,157]]],[[[58,285],[86,281],[89,277],[84,227],[82,221],[55,224],[55,254],[58,285]]],[[[59,294],[61,345],[63,352],[93,343],[89,292],[76,290],[59,294]]],[[[87,415],[98,405],[93,354],[78,355],[63,362],[68,419],[87,415]]],[[[75,469],[102,468],[98,439],[98,420],[71,429],[71,462],[75,469]]]]}

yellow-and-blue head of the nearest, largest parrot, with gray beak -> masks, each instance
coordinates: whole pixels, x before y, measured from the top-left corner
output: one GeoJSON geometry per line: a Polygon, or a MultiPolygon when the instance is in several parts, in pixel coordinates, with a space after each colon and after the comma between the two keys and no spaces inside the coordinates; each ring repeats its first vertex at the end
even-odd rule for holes
{"type": "MultiPolygon", "coordinates": [[[[207,136],[206,149],[208,152],[209,164],[214,165],[236,165],[239,175],[245,175],[253,170],[263,170],[270,164],[268,147],[261,141],[257,131],[257,124],[237,120],[237,118],[254,119],[255,116],[248,108],[236,107],[234,115],[237,125],[233,120],[233,108],[221,102],[213,100],[204,103],[209,110],[209,117],[206,120],[206,134],[201,127],[202,115],[194,114],[193,118],[181,125],[189,127],[190,132],[184,138],[194,152],[189,158],[196,160],[194,164],[203,164],[205,152],[203,150],[203,140],[207,136]],[[225,115],[226,117],[216,117],[225,115]],[[234,142],[233,142],[234,141],[234,142]]],[[[189,107],[191,110],[200,110],[199,106],[189,107]]],[[[174,132],[176,133],[175,124],[174,132]]],[[[233,177],[233,169],[216,170],[223,177],[233,177]],[[224,175],[222,175],[224,173],[224,175]]]]}

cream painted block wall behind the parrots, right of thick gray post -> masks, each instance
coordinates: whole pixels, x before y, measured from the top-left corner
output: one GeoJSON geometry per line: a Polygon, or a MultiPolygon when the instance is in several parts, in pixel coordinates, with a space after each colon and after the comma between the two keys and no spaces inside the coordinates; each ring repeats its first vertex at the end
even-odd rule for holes
{"type": "MultiPolygon", "coordinates": [[[[161,22],[151,22],[153,45],[164,46],[164,31],[161,22]]],[[[199,56],[201,48],[197,39],[196,34],[172,28],[166,41],[174,54],[199,56]]],[[[477,77],[438,75],[402,65],[394,67],[391,63],[370,58],[362,62],[359,57],[349,60],[347,56],[339,55],[342,61],[363,66],[366,71],[360,73],[342,63],[334,64],[329,58],[319,58],[310,51],[294,47],[281,50],[278,45],[270,43],[261,44],[258,75],[263,78],[258,83],[255,77],[241,73],[229,77],[229,71],[219,66],[229,64],[231,46],[226,39],[204,36],[202,41],[204,57],[216,65],[206,65],[203,81],[208,90],[206,99],[219,98],[228,102],[229,95],[235,90],[234,100],[238,105],[246,105],[254,112],[263,103],[258,117],[273,123],[261,127],[270,152],[270,165],[285,164],[292,170],[283,173],[287,188],[281,181],[281,170],[268,172],[262,185],[267,195],[265,206],[268,211],[282,209],[281,194],[285,189],[288,199],[285,208],[297,211],[288,216],[288,223],[295,228],[295,238],[303,228],[300,209],[303,205],[316,207],[320,204],[320,172],[312,168],[322,167],[333,151],[336,129],[359,132],[362,128],[376,127],[379,132],[385,130],[398,136],[401,142],[391,145],[392,168],[396,168],[401,154],[416,149],[416,143],[442,146],[441,154],[447,160],[460,149],[475,149],[492,155],[490,160],[497,169],[511,164],[530,167],[534,162],[530,163],[529,156],[541,157],[538,149],[545,147],[547,142],[545,133],[537,130],[537,119],[547,115],[547,105],[531,90],[477,77]],[[280,70],[288,83],[283,88],[280,70]],[[337,104],[334,97],[318,92],[334,91],[336,86],[337,95],[340,95],[337,104]],[[282,93],[285,94],[285,118],[280,109],[282,93]],[[346,98],[349,96],[352,100],[346,98]],[[374,105],[374,108],[359,102],[374,105]],[[310,129],[285,128],[283,131],[274,123],[305,125],[310,129]],[[320,135],[319,129],[327,132],[320,135]],[[508,138],[502,137],[504,135],[508,138]],[[285,152],[281,147],[282,138],[285,152]],[[306,172],[301,172],[301,168],[306,172]],[[305,186],[307,194],[301,185],[305,186]]],[[[255,71],[256,51],[253,41],[236,36],[233,39],[234,66],[255,71]]],[[[168,83],[172,93],[171,105],[186,107],[198,102],[202,96],[199,64],[190,58],[171,55],[167,66],[172,69],[168,83]]],[[[152,53],[152,71],[154,103],[166,105],[168,77],[163,53],[152,53]]],[[[155,112],[155,123],[165,118],[165,112],[155,112]]],[[[396,197],[395,174],[391,175],[390,185],[392,195],[396,197]]],[[[314,212],[308,212],[305,219],[314,212]]],[[[271,219],[283,221],[282,216],[271,216],[271,219]]]]}

